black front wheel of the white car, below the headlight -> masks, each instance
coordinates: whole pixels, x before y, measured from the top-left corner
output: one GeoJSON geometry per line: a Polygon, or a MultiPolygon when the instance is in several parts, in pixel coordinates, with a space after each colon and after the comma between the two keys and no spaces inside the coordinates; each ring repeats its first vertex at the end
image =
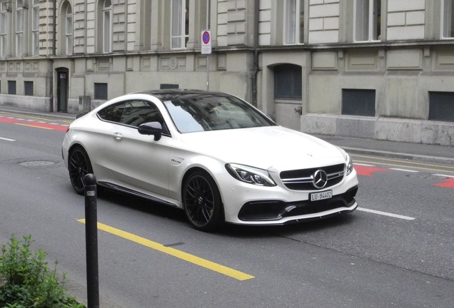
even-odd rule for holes
{"type": "Polygon", "coordinates": [[[182,190],[183,207],[191,225],[197,230],[212,231],[224,220],[221,194],[208,173],[198,170],[186,178],[182,190]]]}

